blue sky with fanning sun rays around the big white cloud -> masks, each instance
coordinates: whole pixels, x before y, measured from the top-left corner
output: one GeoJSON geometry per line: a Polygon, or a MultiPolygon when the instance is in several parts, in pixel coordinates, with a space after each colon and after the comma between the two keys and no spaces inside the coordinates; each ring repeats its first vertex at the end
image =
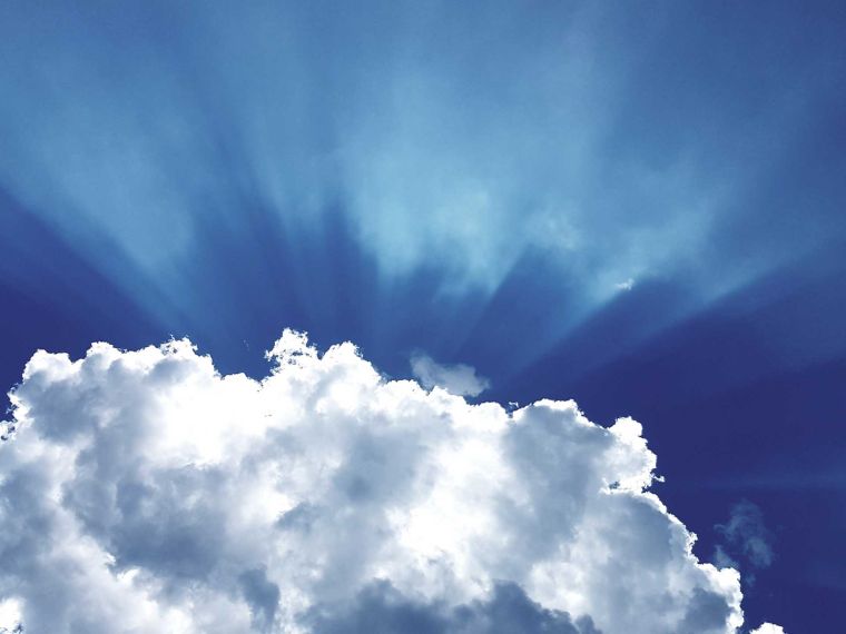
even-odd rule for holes
{"type": "Polygon", "coordinates": [[[631,415],[749,624],[846,618],[836,2],[10,2],[0,383],[284,327],[631,415]],[[774,556],[716,526],[742,501],[774,556]],[[758,564],[761,562],[758,561],[758,564]],[[752,579],[752,581],[749,581],[752,579]]]}

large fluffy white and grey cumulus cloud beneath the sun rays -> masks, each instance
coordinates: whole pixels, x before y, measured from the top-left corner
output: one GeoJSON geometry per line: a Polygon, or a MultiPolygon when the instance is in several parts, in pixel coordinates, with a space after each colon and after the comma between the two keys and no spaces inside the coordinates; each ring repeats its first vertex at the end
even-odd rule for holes
{"type": "Polygon", "coordinates": [[[292,331],[269,356],[254,380],[188,341],[37,353],[0,444],[3,614],[33,634],[741,626],[738,574],[648,491],[634,420],[472,405],[292,331]]]}

